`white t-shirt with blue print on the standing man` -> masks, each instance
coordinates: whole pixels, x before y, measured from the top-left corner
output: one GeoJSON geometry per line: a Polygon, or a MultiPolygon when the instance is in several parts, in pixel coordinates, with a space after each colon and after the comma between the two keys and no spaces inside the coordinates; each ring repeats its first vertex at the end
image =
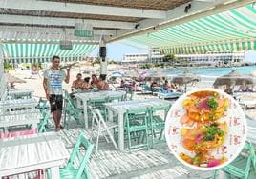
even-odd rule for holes
{"type": "Polygon", "coordinates": [[[45,70],[44,77],[47,79],[47,89],[50,91],[50,94],[62,95],[62,81],[66,78],[66,72],[51,68],[45,70]]]}

